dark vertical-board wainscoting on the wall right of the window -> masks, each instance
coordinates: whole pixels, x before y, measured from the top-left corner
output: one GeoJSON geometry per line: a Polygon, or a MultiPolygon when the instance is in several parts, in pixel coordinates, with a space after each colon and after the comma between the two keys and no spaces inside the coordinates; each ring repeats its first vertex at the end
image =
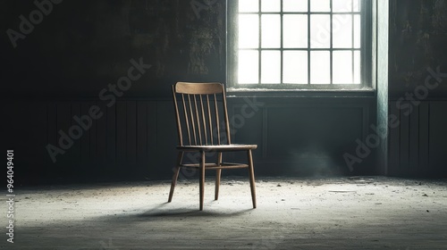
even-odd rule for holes
{"type": "Polygon", "coordinates": [[[446,177],[447,101],[393,100],[389,109],[398,118],[390,127],[390,175],[446,177]]]}

